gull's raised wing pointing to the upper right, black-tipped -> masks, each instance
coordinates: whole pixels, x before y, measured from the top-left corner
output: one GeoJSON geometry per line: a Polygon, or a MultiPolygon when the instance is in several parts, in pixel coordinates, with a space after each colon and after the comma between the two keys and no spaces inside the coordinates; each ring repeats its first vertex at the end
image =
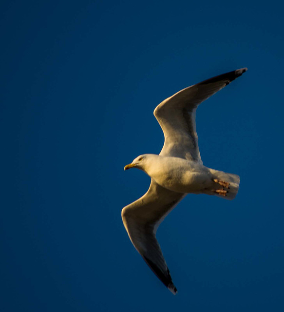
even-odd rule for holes
{"type": "Polygon", "coordinates": [[[161,102],[154,110],[154,116],[165,136],[160,155],[176,156],[202,163],[195,124],[196,108],[246,70],[247,68],[237,69],[199,82],[161,102]]]}

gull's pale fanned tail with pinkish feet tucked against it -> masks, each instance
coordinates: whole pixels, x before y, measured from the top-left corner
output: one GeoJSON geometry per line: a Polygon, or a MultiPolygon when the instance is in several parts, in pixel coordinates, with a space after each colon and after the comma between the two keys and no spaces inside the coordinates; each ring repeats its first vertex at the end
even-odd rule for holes
{"type": "Polygon", "coordinates": [[[239,185],[240,177],[234,174],[228,174],[223,171],[210,169],[213,177],[214,190],[211,190],[210,195],[215,195],[221,198],[232,200],[236,197],[239,185]]]}

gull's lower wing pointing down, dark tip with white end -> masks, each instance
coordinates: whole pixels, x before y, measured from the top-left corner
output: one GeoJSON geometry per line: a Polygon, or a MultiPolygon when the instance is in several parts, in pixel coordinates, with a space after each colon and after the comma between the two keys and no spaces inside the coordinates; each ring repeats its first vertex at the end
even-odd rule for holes
{"type": "Polygon", "coordinates": [[[173,294],[177,290],[156,239],[156,231],[165,216],[184,196],[185,194],[167,190],[151,180],[147,193],[124,207],[121,212],[123,224],[134,247],[173,294]]]}

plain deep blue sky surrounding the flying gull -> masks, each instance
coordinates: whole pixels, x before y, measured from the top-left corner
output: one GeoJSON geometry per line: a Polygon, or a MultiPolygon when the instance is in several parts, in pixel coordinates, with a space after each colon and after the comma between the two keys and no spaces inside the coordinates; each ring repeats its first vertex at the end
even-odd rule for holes
{"type": "Polygon", "coordinates": [[[3,312],[284,311],[279,1],[2,1],[3,312]],[[155,106],[247,67],[197,111],[206,166],[233,201],[188,195],[157,238],[178,294],[133,248],[121,209],[158,154],[155,106]]]}

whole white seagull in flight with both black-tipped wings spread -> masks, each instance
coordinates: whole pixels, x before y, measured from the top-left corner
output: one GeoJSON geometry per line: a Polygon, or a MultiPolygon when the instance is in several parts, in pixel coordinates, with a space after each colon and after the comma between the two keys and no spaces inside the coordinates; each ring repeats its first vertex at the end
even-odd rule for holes
{"type": "Polygon", "coordinates": [[[140,155],[124,167],[124,170],[138,168],[151,177],[147,193],[122,209],[124,227],[138,253],[173,294],[177,289],[156,239],[158,226],[187,194],[233,199],[240,184],[237,175],[203,166],[196,109],[246,70],[241,68],[207,79],[162,101],[154,110],[165,137],[160,154],[140,155]]]}

